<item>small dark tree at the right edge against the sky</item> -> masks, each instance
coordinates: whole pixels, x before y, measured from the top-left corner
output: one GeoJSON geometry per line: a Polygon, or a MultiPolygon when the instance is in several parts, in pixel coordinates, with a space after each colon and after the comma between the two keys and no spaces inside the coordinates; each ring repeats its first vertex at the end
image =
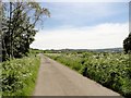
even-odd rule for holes
{"type": "Polygon", "coordinates": [[[123,40],[123,49],[126,53],[131,52],[131,33],[129,36],[123,40]]]}

